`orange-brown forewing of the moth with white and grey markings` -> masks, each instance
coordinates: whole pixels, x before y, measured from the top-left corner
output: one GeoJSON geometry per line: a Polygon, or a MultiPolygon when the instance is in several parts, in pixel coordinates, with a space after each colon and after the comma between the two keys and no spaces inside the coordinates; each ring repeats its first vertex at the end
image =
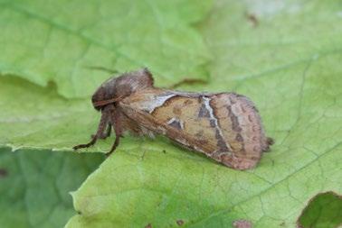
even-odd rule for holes
{"type": "Polygon", "coordinates": [[[147,89],[119,105],[150,131],[234,169],[252,168],[267,149],[259,114],[244,96],[147,89]]]}

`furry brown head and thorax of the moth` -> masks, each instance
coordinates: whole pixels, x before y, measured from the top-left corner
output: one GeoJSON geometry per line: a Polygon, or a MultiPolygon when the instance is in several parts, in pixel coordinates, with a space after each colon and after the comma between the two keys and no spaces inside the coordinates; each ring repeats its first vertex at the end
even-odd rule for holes
{"type": "Polygon", "coordinates": [[[91,97],[92,105],[100,111],[104,106],[115,104],[126,96],[147,87],[153,87],[152,74],[147,68],[124,73],[102,83],[91,97]]]}

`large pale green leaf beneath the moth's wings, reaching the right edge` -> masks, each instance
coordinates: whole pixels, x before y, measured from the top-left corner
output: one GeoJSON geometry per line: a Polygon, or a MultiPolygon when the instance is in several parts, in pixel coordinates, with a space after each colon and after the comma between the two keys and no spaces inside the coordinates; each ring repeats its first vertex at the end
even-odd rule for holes
{"type": "Polygon", "coordinates": [[[337,1],[218,1],[202,25],[211,81],[191,88],[251,97],[271,152],[237,171],[126,139],[72,194],[81,214],[67,227],[295,227],[311,197],[342,193],[340,12],[337,1]]]}

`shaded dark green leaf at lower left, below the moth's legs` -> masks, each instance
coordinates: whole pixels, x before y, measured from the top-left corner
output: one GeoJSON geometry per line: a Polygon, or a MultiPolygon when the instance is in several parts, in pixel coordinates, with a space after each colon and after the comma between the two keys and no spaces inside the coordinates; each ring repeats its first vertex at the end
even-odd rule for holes
{"type": "Polygon", "coordinates": [[[62,227],[75,214],[69,191],[101,160],[100,154],[0,149],[1,227],[62,227]]]}

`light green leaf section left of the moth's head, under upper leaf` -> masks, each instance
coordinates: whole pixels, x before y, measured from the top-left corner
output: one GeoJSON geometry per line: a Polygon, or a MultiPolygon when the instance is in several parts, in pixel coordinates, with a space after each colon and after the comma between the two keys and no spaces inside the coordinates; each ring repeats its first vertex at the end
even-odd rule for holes
{"type": "Polygon", "coordinates": [[[53,85],[0,77],[0,144],[18,148],[71,150],[88,141],[98,117],[88,100],[66,100],[53,85]],[[88,133],[85,133],[88,132],[88,133]]]}

